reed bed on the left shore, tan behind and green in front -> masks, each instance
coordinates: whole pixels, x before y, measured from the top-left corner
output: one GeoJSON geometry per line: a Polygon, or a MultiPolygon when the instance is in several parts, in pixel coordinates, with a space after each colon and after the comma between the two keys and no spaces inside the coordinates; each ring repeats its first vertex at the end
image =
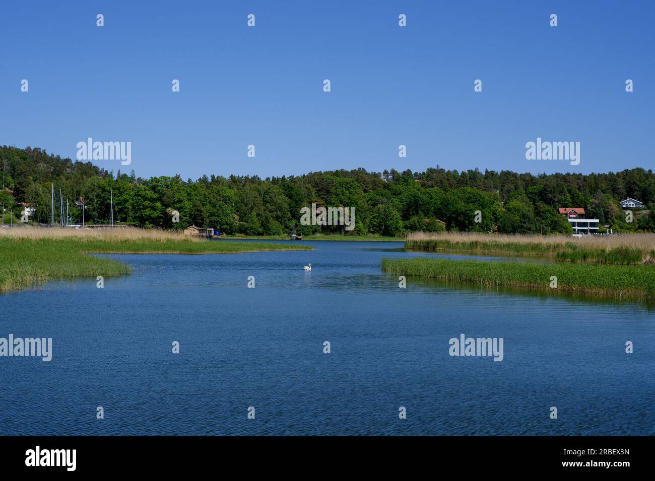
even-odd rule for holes
{"type": "Polygon", "coordinates": [[[310,249],[296,244],[208,241],[139,228],[0,228],[0,293],[57,279],[130,273],[127,264],[92,253],[217,254],[310,249]]]}

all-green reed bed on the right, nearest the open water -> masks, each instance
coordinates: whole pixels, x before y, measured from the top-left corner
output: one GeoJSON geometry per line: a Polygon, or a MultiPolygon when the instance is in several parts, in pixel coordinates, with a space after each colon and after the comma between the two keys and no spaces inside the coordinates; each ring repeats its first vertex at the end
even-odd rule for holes
{"type": "Polygon", "coordinates": [[[384,272],[403,276],[432,277],[483,287],[523,287],[542,291],[553,289],[550,286],[552,276],[555,276],[557,291],[655,301],[655,269],[648,266],[536,264],[415,257],[383,258],[382,268],[384,272]]]}

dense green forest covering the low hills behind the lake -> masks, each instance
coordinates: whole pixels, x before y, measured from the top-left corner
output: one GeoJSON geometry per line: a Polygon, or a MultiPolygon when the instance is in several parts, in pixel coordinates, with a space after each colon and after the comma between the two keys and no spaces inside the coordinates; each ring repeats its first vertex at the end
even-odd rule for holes
{"type": "MultiPolygon", "coordinates": [[[[394,236],[414,230],[485,231],[507,233],[571,232],[557,207],[584,207],[586,217],[600,219],[615,232],[655,231],[655,175],[636,168],[617,173],[556,173],[533,175],[511,171],[445,170],[424,172],[390,170],[392,179],[365,169],[337,170],[261,179],[256,175],[204,175],[196,181],[175,177],[141,179],[134,171],[117,173],[90,162],[73,162],[27,147],[0,147],[5,209],[35,204],[31,221],[50,222],[50,184],[70,200],[73,223],[80,223],[75,200],[84,198],[86,221],[106,223],[111,217],[109,189],[113,190],[114,219],[121,223],[163,228],[191,224],[217,228],[227,234],[348,233],[394,236]],[[632,197],[646,204],[634,221],[618,202],[632,197]],[[356,226],[301,226],[301,207],[354,207],[356,226]],[[179,211],[173,223],[170,212],[179,211]],[[481,215],[476,219],[476,211],[481,215]],[[478,222],[476,222],[476,220],[478,222]]],[[[384,171],[387,173],[387,171],[384,171]]],[[[5,214],[9,221],[9,213],[5,214]]],[[[602,229],[601,229],[602,232],[602,229]]]]}

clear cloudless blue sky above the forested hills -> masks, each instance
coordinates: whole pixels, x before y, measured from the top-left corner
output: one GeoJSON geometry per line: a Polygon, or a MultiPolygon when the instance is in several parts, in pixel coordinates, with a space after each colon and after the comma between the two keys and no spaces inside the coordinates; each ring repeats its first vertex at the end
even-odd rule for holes
{"type": "Polygon", "coordinates": [[[654,165],[652,1],[25,1],[1,10],[4,145],[75,158],[87,137],[131,141],[130,166],[96,164],[183,179],[654,165]],[[526,160],[536,137],[580,141],[580,165],[526,160]]]}

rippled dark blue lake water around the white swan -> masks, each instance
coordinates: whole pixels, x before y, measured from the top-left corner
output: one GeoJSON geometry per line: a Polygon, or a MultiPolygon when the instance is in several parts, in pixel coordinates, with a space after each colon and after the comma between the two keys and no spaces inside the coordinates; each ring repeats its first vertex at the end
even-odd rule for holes
{"type": "Polygon", "coordinates": [[[0,435],[655,435],[646,306],[415,277],[400,289],[381,258],[432,254],[303,242],[315,251],[112,255],[133,273],[104,289],[0,294],[0,337],[54,351],[0,357],[0,435]],[[504,338],[503,361],[451,357],[462,333],[504,338]]]}

